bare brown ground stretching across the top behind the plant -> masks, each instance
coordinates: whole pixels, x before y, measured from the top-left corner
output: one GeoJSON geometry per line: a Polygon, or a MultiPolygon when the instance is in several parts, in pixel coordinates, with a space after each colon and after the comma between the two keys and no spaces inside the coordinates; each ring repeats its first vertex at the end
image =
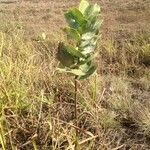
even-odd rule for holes
{"type": "MultiPolygon", "coordinates": [[[[96,2],[96,0],[93,0],[96,2]]],[[[0,19],[21,21],[34,32],[57,34],[65,25],[63,13],[70,6],[78,5],[79,1],[15,1],[1,3],[0,19]]],[[[103,35],[118,36],[119,31],[133,34],[139,30],[150,30],[150,2],[148,0],[100,0],[102,8],[103,35]]]]}

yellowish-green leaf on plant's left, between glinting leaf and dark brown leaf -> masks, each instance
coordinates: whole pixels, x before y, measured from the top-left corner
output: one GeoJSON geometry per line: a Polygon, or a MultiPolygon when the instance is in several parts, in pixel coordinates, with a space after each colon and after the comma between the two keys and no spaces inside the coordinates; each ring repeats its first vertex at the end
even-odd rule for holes
{"type": "Polygon", "coordinates": [[[72,38],[76,41],[79,41],[80,40],[80,34],[77,30],[73,29],[73,28],[64,28],[63,31],[67,34],[67,36],[69,38],[72,38]]]}

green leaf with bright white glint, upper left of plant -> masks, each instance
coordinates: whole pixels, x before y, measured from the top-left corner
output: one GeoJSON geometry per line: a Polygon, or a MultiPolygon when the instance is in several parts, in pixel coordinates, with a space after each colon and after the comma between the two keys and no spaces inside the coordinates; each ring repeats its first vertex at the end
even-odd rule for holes
{"type": "Polygon", "coordinates": [[[72,8],[65,13],[65,18],[71,28],[78,30],[81,30],[82,26],[87,23],[87,20],[77,8],[72,8]]]}

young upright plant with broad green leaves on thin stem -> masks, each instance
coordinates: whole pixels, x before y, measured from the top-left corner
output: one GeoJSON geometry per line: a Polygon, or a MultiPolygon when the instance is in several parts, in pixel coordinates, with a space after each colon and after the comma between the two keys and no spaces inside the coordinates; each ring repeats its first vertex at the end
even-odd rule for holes
{"type": "MultiPolygon", "coordinates": [[[[82,0],[79,8],[71,8],[65,13],[68,26],[63,28],[67,35],[67,42],[60,42],[57,59],[60,64],[58,70],[74,76],[75,81],[75,119],[77,120],[77,80],[83,80],[96,71],[92,63],[95,56],[99,28],[100,7],[82,0]]],[[[78,131],[76,131],[76,136],[78,131]]]]}

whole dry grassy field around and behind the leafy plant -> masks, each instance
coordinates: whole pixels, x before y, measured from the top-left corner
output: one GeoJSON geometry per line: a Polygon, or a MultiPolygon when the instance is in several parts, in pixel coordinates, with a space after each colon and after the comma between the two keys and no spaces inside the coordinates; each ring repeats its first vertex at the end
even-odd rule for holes
{"type": "Polygon", "coordinates": [[[0,0],[0,149],[150,149],[150,1],[91,0],[103,25],[97,74],[56,71],[64,12],[79,0],[0,0]],[[43,38],[45,33],[46,38],[43,38]]]}

